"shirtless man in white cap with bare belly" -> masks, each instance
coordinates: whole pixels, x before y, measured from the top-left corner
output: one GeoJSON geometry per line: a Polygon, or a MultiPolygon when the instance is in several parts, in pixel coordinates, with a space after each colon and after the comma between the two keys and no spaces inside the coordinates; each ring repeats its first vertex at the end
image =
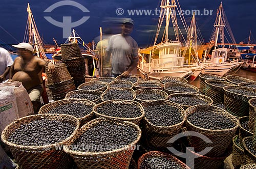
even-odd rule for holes
{"type": "Polygon", "coordinates": [[[33,55],[33,47],[29,43],[12,45],[18,48],[17,57],[10,69],[9,81],[20,81],[29,93],[34,111],[40,108],[40,95],[42,93],[41,73],[48,66],[50,71],[55,71],[55,66],[33,55]]]}

